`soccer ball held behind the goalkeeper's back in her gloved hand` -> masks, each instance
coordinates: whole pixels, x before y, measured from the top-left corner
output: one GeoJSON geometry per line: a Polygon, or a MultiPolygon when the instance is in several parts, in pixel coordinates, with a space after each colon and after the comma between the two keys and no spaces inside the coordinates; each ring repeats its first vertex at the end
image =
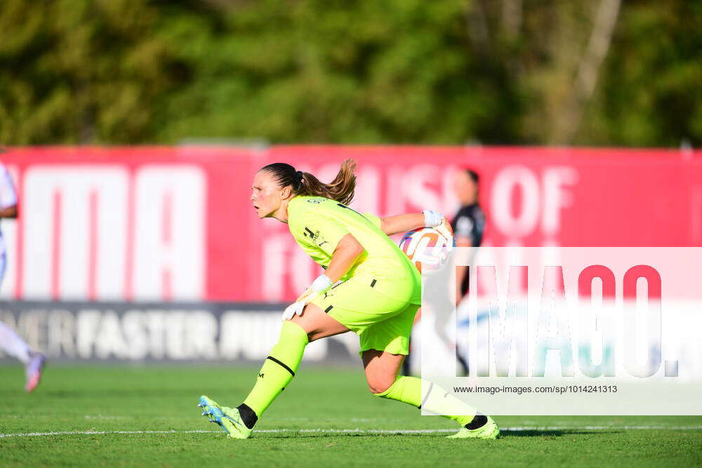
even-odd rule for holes
{"type": "Polygon", "coordinates": [[[409,257],[422,276],[438,272],[456,246],[456,241],[433,227],[420,227],[406,232],[399,241],[399,248],[409,257]]]}

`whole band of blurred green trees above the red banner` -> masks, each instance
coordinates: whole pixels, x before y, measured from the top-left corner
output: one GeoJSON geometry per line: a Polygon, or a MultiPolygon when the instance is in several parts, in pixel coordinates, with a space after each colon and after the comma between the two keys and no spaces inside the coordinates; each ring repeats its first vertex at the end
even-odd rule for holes
{"type": "Polygon", "coordinates": [[[702,144],[685,0],[4,0],[0,142],[702,144]]]}

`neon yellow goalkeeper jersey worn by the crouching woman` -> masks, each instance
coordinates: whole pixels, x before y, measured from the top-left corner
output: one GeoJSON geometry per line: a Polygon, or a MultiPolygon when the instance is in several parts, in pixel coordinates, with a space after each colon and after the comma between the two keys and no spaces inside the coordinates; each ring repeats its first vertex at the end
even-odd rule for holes
{"type": "MultiPolygon", "coordinates": [[[[296,196],[288,203],[288,227],[300,247],[312,260],[326,269],[337,244],[352,234],[364,253],[342,280],[369,276],[378,292],[421,304],[421,279],[418,270],[402,250],[380,230],[380,218],[358,213],[336,200],[323,196],[296,196]]],[[[360,299],[360,298],[359,298],[360,299]]]]}

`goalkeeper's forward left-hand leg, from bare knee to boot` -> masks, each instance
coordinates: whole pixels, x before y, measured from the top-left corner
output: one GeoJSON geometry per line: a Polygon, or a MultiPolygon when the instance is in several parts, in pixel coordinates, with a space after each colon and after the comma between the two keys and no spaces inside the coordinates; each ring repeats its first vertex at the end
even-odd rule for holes
{"type": "Polygon", "coordinates": [[[203,415],[217,422],[230,436],[246,439],[258,418],[293,380],[307,343],[347,331],[348,328],[317,305],[307,304],[302,316],[283,322],[279,340],[258,371],[256,385],[244,403],[237,408],[227,408],[202,396],[199,406],[204,408],[203,415]]]}

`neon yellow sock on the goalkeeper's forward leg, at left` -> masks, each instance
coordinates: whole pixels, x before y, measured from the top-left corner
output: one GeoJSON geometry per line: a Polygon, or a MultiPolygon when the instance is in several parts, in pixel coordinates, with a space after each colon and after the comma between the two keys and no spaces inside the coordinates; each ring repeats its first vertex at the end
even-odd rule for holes
{"type": "Polygon", "coordinates": [[[284,321],[280,338],[258,373],[256,385],[244,400],[258,417],[293,380],[309,340],[299,325],[284,321]]]}

